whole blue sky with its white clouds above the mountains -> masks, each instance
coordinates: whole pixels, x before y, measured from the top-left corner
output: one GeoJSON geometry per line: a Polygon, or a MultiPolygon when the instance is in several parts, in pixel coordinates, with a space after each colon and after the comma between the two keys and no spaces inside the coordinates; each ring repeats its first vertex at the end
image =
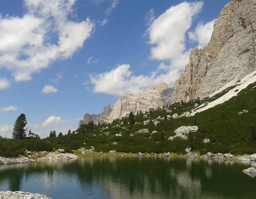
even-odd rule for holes
{"type": "Polygon", "coordinates": [[[1,0],[0,135],[40,137],[124,94],[175,84],[230,0],[1,0]]]}

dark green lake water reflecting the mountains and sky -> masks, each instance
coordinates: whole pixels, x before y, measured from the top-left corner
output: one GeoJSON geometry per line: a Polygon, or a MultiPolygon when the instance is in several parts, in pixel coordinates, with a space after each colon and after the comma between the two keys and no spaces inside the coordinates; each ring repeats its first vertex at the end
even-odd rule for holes
{"type": "MultiPolygon", "coordinates": [[[[185,158],[79,158],[0,166],[0,191],[53,199],[253,199],[249,163],[185,158]]],[[[255,166],[255,165],[254,165],[255,166]]]]}

